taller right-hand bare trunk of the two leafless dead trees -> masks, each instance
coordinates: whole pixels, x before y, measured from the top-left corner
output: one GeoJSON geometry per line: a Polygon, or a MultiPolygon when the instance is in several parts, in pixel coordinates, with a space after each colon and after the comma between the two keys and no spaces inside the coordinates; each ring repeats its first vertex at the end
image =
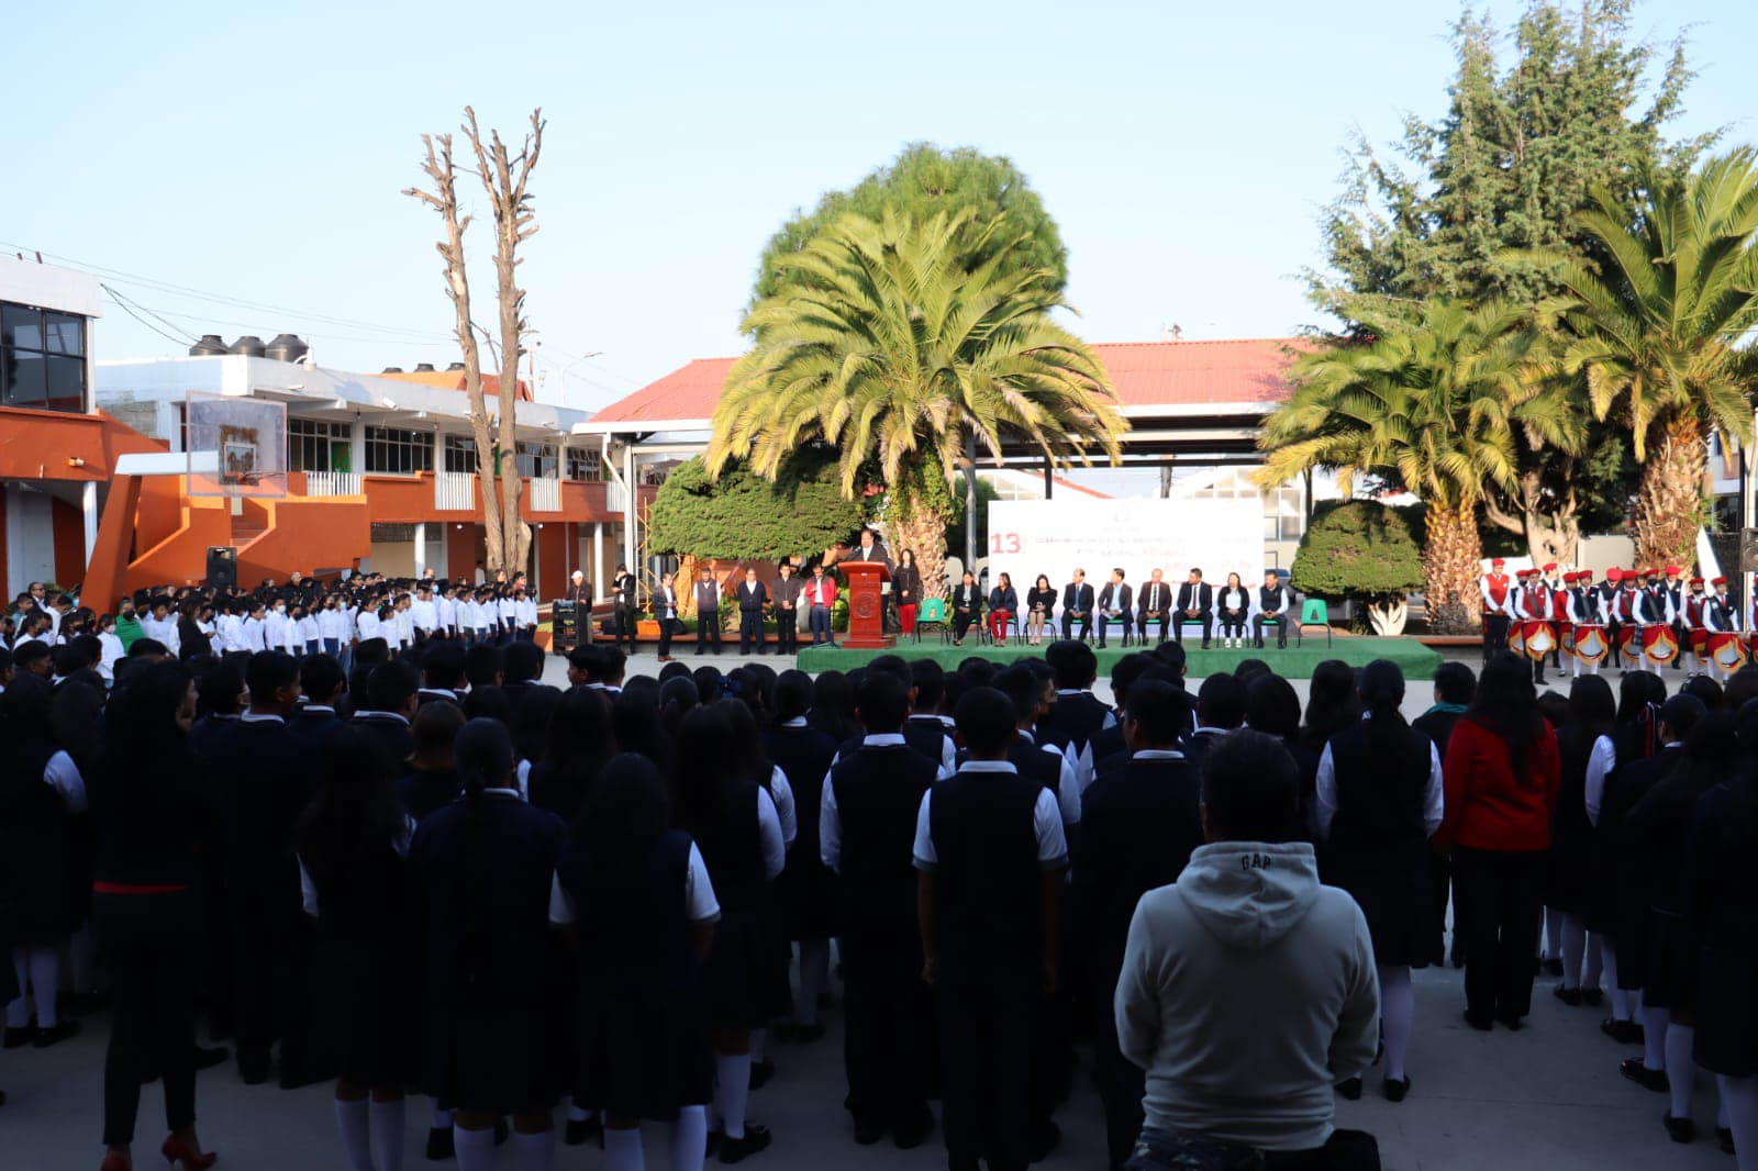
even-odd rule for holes
{"type": "Polygon", "coordinates": [[[519,257],[519,244],[536,236],[538,230],[527,183],[531,171],[538,165],[538,155],[543,151],[543,111],[531,111],[531,130],[519,153],[512,155],[506,142],[501,141],[499,130],[489,130],[485,148],[482,132],[476,128],[476,111],[464,107],[464,134],[469,135],[471,149],[476,151],[476,176],[482,179],[494,211],[494,276],[501,302],[501,418],[494,462],[501,478],[501,524],[510,573],[524,568],[526,552],[531,549],[531,529],[519,519],[519,494],[524,482],[519,478],[519,436],[513,404],[519,389],[519,339],[524,336],[527,322],[524,316],[526,290],[519,287],[517,269],[524,264],[519,257]]]}

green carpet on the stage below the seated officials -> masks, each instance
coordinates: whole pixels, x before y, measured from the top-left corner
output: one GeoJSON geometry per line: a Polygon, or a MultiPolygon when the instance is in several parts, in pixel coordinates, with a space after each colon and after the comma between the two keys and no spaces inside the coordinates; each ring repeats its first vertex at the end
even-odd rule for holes
{"type": "MultiPolygon", "coordinates": [[[[1097,647],[1093,649],[1099,654],[1099,673],[1108,675],[1111,673],[1111,665],[1136,647],[1125,651],[1113,642],[1104,651],[1099,651],[1097,647]]],[[[939,635],[928,635],[921,642],[916,642],[914,638],[898,638],[897,645],[891,647],[890,652],[902,654],[905,659],[935,659],[941,666],[955,668],[969,658],[1011,663],[1020,658],[1041,656],[1044,651],[1042,647],[1021,647],[1014,644],[1006,647],[981,647],[974,638],[967,640],[962,647],[955,647],[949,642],[941,642],[939,635]]],[[[802,647],[800,670],[847,670],[890,652],[846,651],[842,647],[802,647]]],[[[1391,659],[1405,668],[1405,679],[1433,679],[1435,668],[1443,661],[1438,651],[1424,647],[1415,638],[1338,638],[1331,645],[1326,645],[1324,638],[1308,638],[1301,647],[1289,644],[1287,651],[1278,651],[1275,644],[1264,647],[1262,651],[1257,651],[1255,647],[1224,651],[1218,645],[1210,651],[1201,651],[1197,642],[1187,640],[1185,652],[1188,656],[1185,673],[1192,679],[1215,675],[1217,672],[1231,672],[1243,659],[1264,659],[1269,663],[1271,670],[1283,679],[1311,679],[1313,668],[1326,659],[1343,659],[1350,666],[1366,666],[1373,659],[1391,659]]]]}

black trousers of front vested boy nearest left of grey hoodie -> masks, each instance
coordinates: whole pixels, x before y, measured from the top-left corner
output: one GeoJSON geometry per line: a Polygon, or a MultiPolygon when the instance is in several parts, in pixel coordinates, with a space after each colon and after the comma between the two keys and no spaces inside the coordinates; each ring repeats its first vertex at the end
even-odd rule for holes
{"type": "Polygon", "coordinates": [[[1030,1157],[1037,969],[983,985],[935,986],[941,1020],[941,1115],[951,1167],[1025,1171],[1030,1157]]]}

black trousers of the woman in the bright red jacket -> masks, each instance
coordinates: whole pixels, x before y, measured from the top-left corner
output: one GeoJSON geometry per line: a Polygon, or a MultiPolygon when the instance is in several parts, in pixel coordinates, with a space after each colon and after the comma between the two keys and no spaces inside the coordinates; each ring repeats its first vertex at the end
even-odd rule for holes
{"type": "Polygon", "coordinates": [[[1454,928],[1464,941],[1464,1006],[1480,1020],[1531,1011],[1549,860],[1544,849],[1456,846],[1452,851],[1454,928]]]}

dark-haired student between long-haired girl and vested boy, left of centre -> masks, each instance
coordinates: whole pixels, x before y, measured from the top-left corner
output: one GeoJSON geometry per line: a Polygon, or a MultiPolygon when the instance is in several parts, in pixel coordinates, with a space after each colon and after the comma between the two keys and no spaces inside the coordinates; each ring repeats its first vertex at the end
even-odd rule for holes
{"type": "Polygon", "coordinates": [[[819,800],[837,742],[810,728],[812,677],[782,672],[775,680],[775,723],[765,733],[765,751],[793,789],[798,832],[788,847],[788,867],[775,881],[788,939],[800,944],[800,990],[793,1002],[791,1039],[810,1043],[825,1036],[817,999],[830,986],[830,937],[835,935],[835,893],[819,851],[819,800]]]}

